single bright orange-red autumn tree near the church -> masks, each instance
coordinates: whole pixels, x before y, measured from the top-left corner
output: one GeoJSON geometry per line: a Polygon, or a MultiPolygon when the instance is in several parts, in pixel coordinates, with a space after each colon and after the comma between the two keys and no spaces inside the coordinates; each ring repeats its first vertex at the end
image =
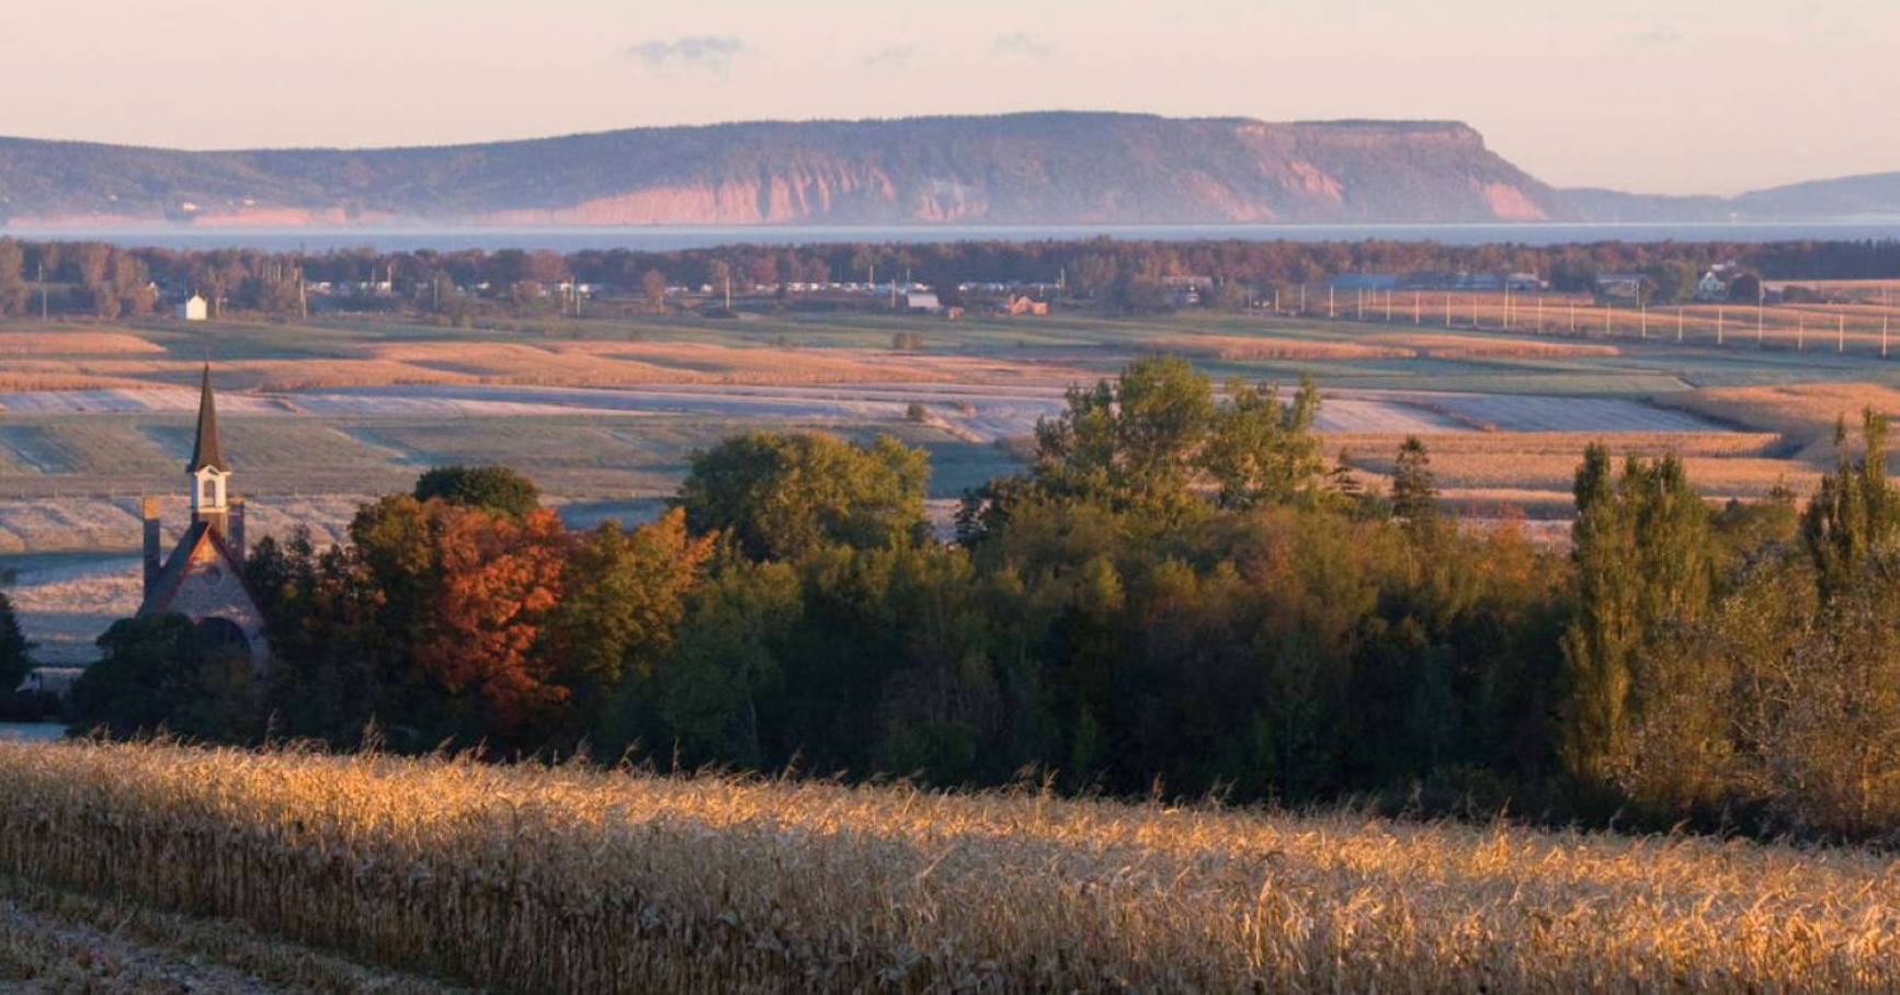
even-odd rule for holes
{"type": "Polygon", "coordinates": [[[568,689],[540,651],[566,583],[568,534],[553,509],[513,520],[429,501],[439,579],[414,648],[416,666],[450,695],[473,697],[502,737],[559,714],[568,689]]]}

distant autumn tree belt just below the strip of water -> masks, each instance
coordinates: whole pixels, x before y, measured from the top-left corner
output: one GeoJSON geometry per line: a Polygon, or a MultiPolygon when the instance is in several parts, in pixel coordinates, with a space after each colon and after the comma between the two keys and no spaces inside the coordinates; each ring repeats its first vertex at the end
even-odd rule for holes
{"type": "Polygon", "coordinates": [[[448,313],[467,310],[456,289],[511,310],[553,310],[538,291],[562,281],[602,287],[629,300],[661,302],[665,289],[728,281],[747,292],[785,283],[868,283],[910,277],[929,287],[1043,283],[1104,310],[1170,306],[1163,277],[1205,275],[1216,291],[1203,304],[1244,308],[1275,287],[1340,273],[1530,272],[1558,291],[1590,291],[1598,273],[1647,273],[1661,298],[1693,291],[1712,264],[1740,262],[1765,279],[1900,277],[1896,241],[1442,245],[1425,241],[944,241],[726,245],[631,251],[412,251],[268,253],[258,249],[122,249],[104,243],[0,239],[0,315],[49,313],[137,317],[150,313],[152,283],[171,294],[201,292],[236,311],[296,315],[310,283],[391,285],[357,294],[353,308],[448,313]],[[46,292],[36,300],[34,287],[46,292]]]}

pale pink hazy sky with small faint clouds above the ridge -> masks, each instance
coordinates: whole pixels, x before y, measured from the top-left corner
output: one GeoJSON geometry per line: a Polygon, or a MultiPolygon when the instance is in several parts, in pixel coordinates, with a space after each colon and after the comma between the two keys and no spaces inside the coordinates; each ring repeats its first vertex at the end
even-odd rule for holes
{"type": "Polygon", "coordinates": [[[437,144],[1001,110],[1457,118],[1562,186],[1900,171],[1900,0],[6,0],[0,135],[437,144]]]}

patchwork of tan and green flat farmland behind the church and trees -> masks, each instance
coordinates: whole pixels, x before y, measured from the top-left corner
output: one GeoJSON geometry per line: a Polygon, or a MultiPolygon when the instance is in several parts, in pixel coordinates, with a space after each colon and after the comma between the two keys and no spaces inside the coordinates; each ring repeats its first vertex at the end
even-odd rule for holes
{"type": "MultiPolygon", "coordinates": [[[[1313,376],[1330,460],[1383,486],[1398,444],[1419,435],[1454,507],[1472,518],[1528,515],[1552,537],[1592,441],[1682,454],[1708,498],[1756,499],[1813,486],[1834,461],[1837,416],[1862,404],[1900,412],[1900,359],[1881,361],[1864,334],[1852,338],[1872,327],[1864,313],[1849,317],[1852,347],[1837,355],[1746,336],[1716,347],[1714,327],[1699,336],[1697,321],[1727,323],[1725,308],[1685,308],[1678,344],[1640,338],[1621,323],[1634,313],[1621,311],[1609,336],[1600,319],[1558,334],[1556,302],[1543,308],[1543,332],[1522,300],[1509,330],[1501,298],[1455,300],[1452,329],[1410,325],[1404,308],[1393,323],[1383,310],[1328,321],[1313,313],[1320,304],[1309,298],[1305,315],[958,323],[880,313],[477,329],[376,317],[10,323],[0,327],[0,572],[15,573],[13,598],[42,657],[87,659],[91,638],[137,602],[137,498],[180,490],[207,351],[253,535],[302,522],[319,541],[340,537],[359,501],[454,461],[513,465],[576,522],[642,518],[694,450],[754,429],[893,433],[923,446],[931,511],[946,524],[965,488],[1020,467],[1026,437],[1060,410],[1064,387],[1148,351],[1188,355],[1216,384],[1292,387],[1313,376]],[[899,334],[918,347],[895,349],[899,334]]],[[[1431,310],[1419,304],[1423,323],[1431,310]]],[[[1765,327],[1776,319],[1803,321],[1765,311],[1765,327]]],[[[182,503],[167,520],[182,520],[182,503]]]]}

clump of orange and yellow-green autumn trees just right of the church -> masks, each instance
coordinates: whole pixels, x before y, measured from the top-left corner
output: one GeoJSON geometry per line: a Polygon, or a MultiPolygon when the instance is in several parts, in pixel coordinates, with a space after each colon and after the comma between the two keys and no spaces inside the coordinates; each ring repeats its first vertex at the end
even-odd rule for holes
{"type": "Polygon", "coordinates": [[[484,737],[576,744],[673,646],[714,539],[682,511],[568,532],[515,515],[390,496],[350,526],[353,577],[374,604],[378,712],[420,742],[484,737]]]}

